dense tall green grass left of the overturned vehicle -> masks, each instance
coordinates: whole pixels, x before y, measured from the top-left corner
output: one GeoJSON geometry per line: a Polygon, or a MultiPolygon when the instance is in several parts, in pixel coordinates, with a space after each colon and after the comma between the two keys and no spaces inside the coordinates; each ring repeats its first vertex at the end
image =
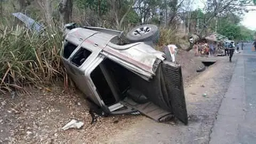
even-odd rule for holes
{"type": "Polygon", "coordinates": [[[23,26],[0,23],[0,91],[67,82],[61,66],[61,41],[57,27],[46,27],[42,36],[23,26]]]}

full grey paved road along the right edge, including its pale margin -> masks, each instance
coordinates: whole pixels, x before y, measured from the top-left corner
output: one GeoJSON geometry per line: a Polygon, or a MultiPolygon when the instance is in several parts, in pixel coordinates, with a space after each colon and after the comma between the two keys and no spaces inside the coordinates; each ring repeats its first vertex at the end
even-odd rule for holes
{"type": "Polygon", "coordinates": [[[245,44],[222,100],[210,143],[256,143],[256,52],[245,44]]]}

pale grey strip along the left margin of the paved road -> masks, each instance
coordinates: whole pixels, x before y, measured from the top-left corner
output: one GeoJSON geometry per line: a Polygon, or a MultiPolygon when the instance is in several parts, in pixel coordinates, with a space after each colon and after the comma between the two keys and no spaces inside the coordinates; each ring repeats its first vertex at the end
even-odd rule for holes
{"type": "Polygon", "coordinates": [[[243,122],[245,115],[244,105],[244,60],[243,55],[239,55],[234,75],[231,78],[225,98],[222,100],[210,135],[210,144],[238,142],[239,124],[243,122]]]}

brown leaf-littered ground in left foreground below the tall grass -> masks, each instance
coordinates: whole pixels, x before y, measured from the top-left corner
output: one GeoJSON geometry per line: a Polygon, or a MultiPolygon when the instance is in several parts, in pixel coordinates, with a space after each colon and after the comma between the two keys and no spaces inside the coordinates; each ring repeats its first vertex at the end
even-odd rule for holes
{"type": "MultiPolygon", "coordinates": [[[[54,87],[54,86],[53,86],[54,87]]],[[[50,91],[30,90],[11,98],[0,97],[0,143],[94,143],[111,136],[141,116],[99,118],[91,124],[87,101],[81,93],[63,93],[59,86],[50,91]],[[71,119],[84,122],[82,129],[61,130],[71,119]]]]}

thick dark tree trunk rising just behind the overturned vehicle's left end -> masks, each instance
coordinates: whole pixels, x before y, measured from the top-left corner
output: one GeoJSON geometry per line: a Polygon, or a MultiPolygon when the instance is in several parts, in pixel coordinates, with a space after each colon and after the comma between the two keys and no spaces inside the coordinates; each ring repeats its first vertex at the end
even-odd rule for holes
{"type": "Polygon", "coordinates": [[[61,0],[59,3],[59,12],[60,12],[60,21],[61,26],[65,25],[65,23],[69,23],[71,21],[73,9],[73,0],[61,0]]]}

